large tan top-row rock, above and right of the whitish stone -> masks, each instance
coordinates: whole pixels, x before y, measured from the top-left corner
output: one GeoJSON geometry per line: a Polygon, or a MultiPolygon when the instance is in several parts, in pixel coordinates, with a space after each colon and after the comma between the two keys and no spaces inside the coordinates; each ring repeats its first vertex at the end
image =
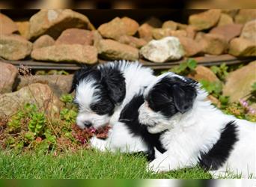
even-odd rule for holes
{"type": "Polygon", "coordinates": [[[198,31],[212,28],[217,24],[222,10],[207,10],[203,13],[197,13],[189,16],[189,25],[195,26],[198,31]]]}

